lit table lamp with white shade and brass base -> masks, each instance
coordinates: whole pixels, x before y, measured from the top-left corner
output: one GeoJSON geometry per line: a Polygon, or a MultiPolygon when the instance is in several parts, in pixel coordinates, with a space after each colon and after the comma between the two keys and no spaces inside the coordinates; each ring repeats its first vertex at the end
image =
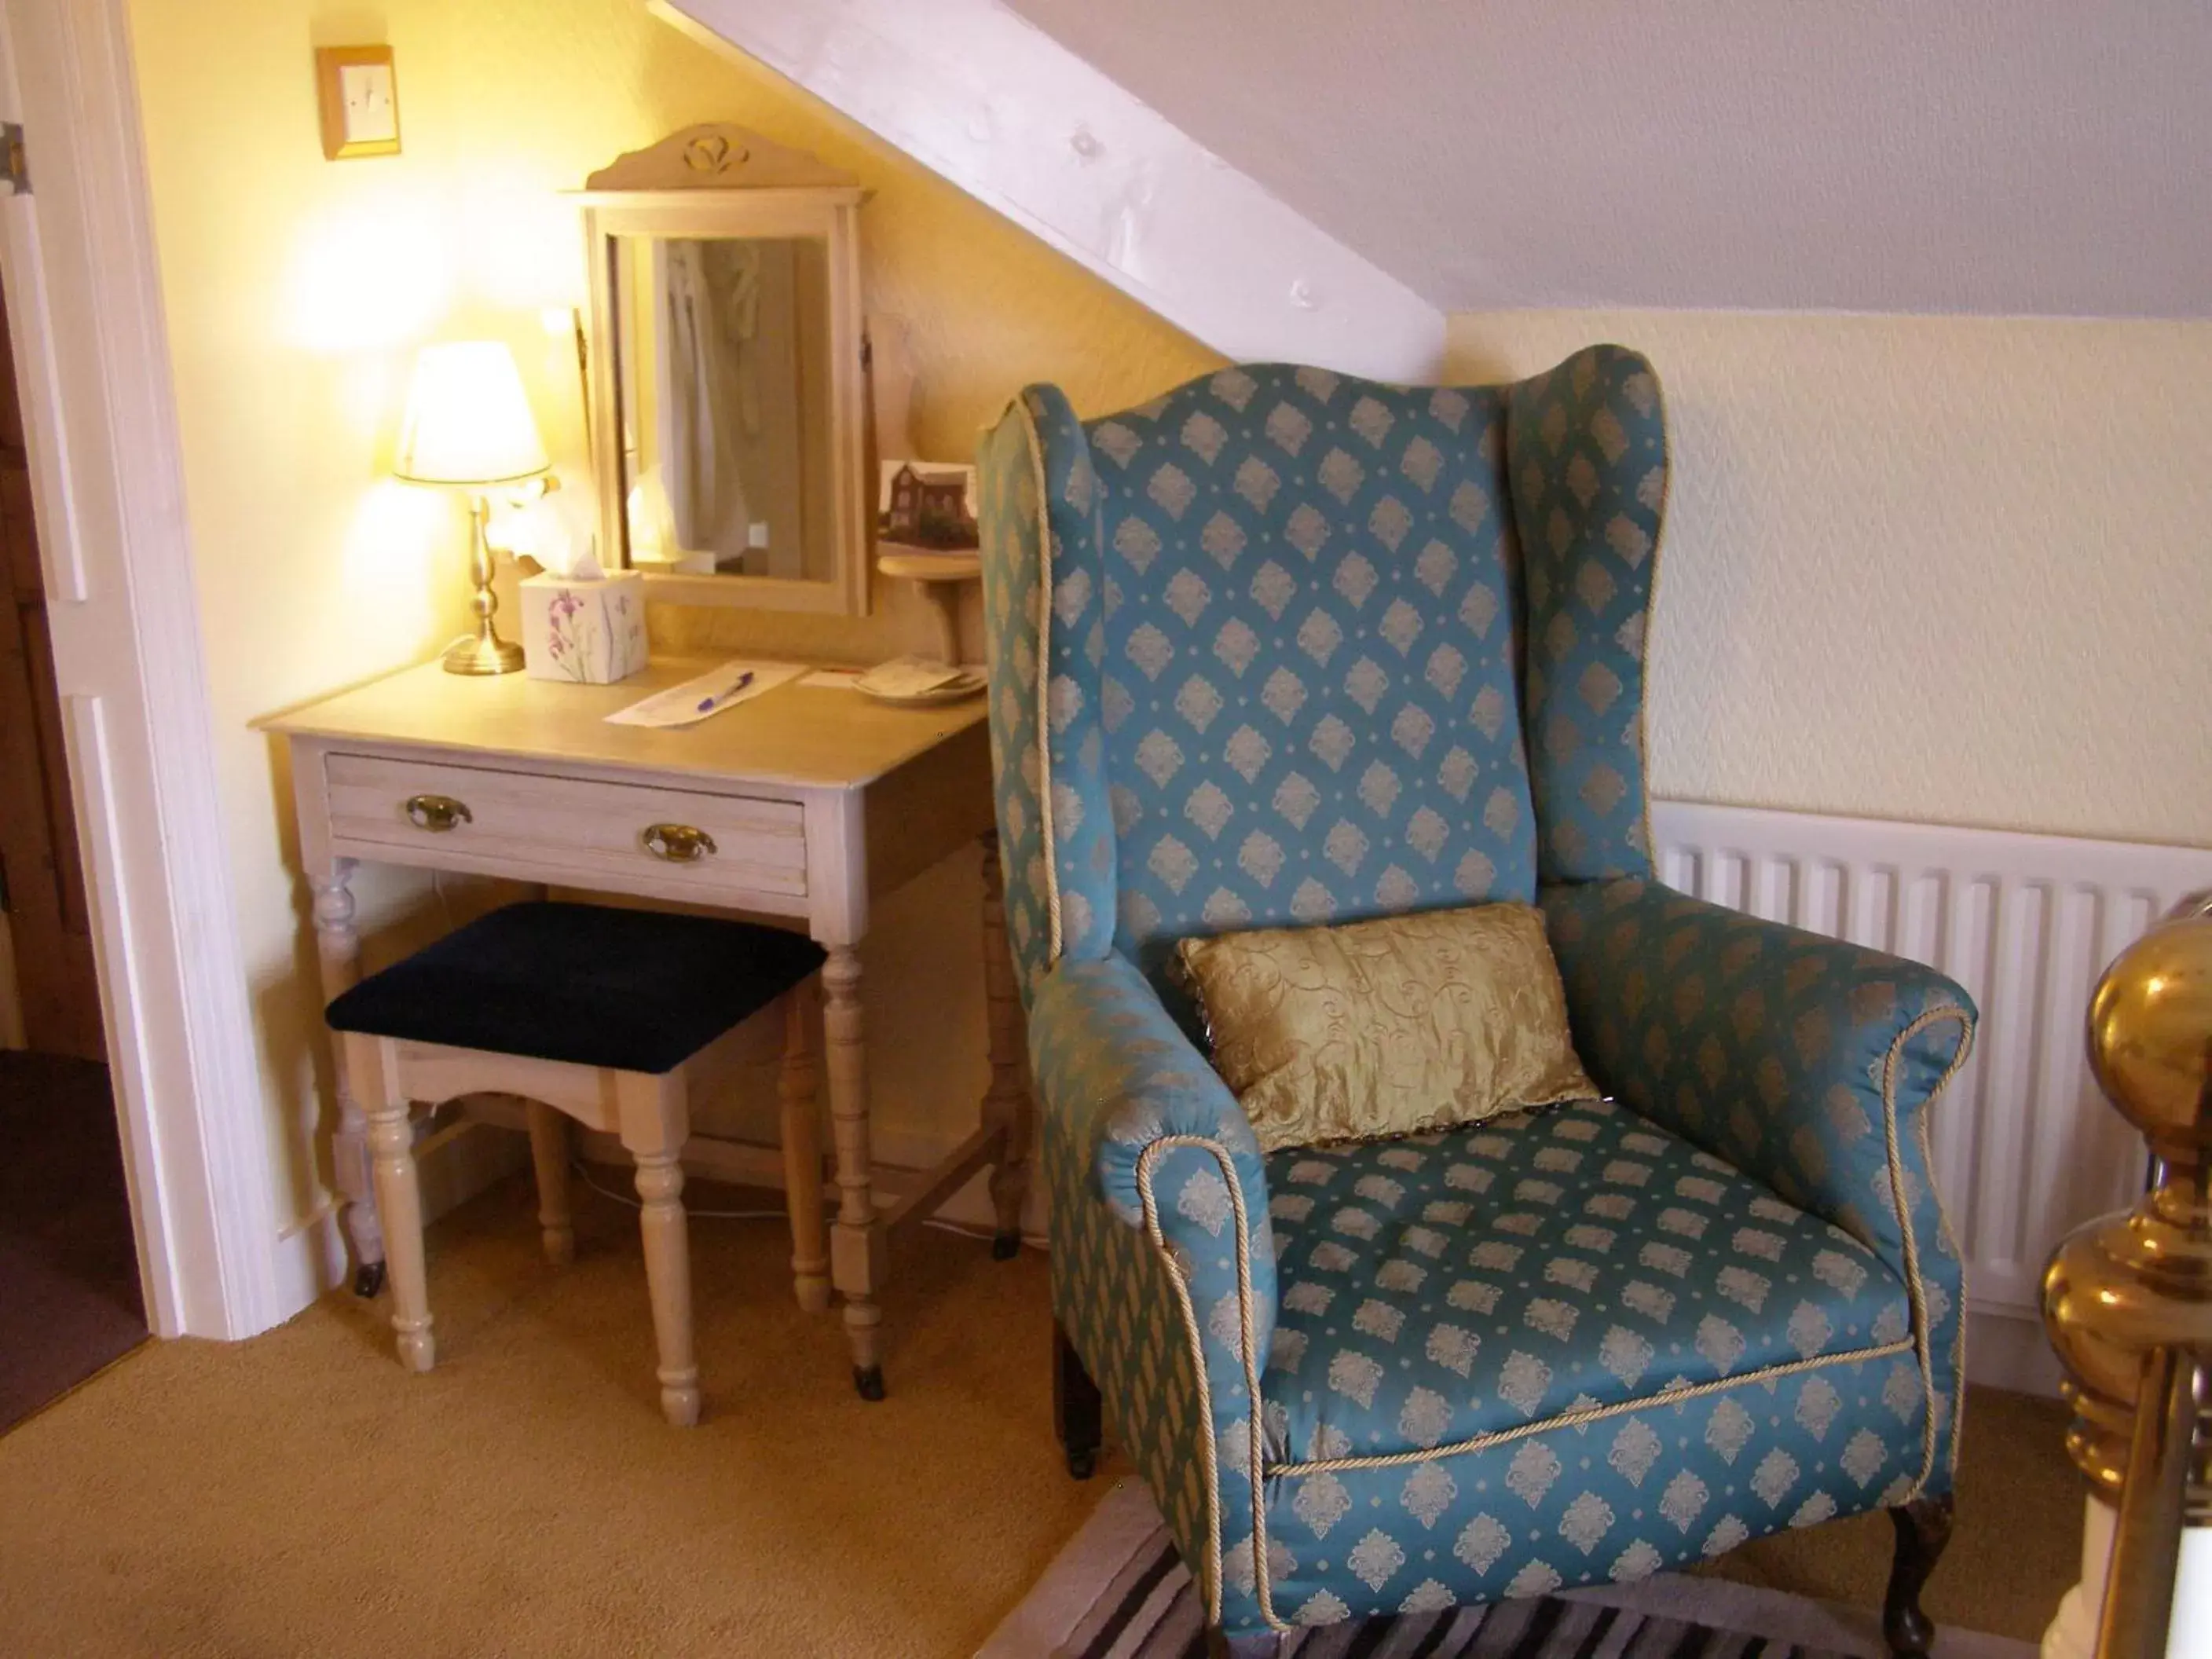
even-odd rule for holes
{"type": "Polygon", "coordinates": [[[394,478],[409,484],[447,484],[469,491],[469,580],[476,582],[476,633],[445,653],[449,675],[511,675],[522,666],[522,646],[500,639],[491,613],[491,546],[484,520],[487,491],[522,484],[546,471],[544,440],[531,418],[515,356],[498,341],[425,345],[416,356],[400,422],[394,478]]]}

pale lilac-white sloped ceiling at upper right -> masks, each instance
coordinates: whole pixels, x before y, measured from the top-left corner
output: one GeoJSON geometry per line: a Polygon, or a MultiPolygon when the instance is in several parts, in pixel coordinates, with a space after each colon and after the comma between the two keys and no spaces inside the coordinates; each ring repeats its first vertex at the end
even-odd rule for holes
{"type": "Polygon", "coordinates": [[[1444,310],[2212,314],[2208,0],[1006,2],[1444,310]]]}

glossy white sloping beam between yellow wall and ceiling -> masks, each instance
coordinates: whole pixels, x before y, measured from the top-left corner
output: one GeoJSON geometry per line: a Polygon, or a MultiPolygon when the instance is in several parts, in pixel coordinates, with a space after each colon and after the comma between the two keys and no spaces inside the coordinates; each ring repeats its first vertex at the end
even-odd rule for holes
{"type": "Polygon", "coordinates": [[[998,0],[648,0],[734,46],[1234,361],[1380,380],[1444,314],[998,0]]]}

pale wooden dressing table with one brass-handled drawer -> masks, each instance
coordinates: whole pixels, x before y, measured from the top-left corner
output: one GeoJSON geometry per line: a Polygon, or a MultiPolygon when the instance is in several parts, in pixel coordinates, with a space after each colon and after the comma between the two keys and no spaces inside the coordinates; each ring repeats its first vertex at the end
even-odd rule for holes
{"type": "MultiPolygon", "coordinates": [[[[358,975],[347,883],[363,860],[805,925],[830,953],[821,971],[838,1190],[830,1274],[845,1296],[854,1367],[872,1371],[880,1365],[889,1232],[925,1219],[991,1168],[998,1252],[1011,1254],[1020,1239],[1031,1102],[991,832],[984,701],[887,708],[841,686],[792,681],[692,728],[606,723],[606,714],[712,666],[655,659],[617,686],[568,686],[522,675],[471,679],[427,664],[261,728],[290,745],[325,995],[358,975]],[[984,847],[991,1084],[982,1124],[878,1212],[856,945],[874,896],[971,841],[984,847]]],[[[374,1294],[383,1234],[369,1194],[367,1117],[343,1060],[334,1066],[334,1166],[358,1263],[354,1287],[374,1294]]],[[[774,1168],[768,1157],[757,1164],[774,1168]]],[[[697,1168],[743,1175],[750,1166],[701,1159],[697,1168]]]]}

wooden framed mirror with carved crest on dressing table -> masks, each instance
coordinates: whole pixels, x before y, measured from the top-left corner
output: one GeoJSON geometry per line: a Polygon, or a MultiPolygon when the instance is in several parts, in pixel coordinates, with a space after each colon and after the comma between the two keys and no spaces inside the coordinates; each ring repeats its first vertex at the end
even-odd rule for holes
{"type": "Polygon", "coordinates": [[[863,615],[867,192],[708,124],[577,199],[602,562],[646,573],[653,599],[863,615]]]}

